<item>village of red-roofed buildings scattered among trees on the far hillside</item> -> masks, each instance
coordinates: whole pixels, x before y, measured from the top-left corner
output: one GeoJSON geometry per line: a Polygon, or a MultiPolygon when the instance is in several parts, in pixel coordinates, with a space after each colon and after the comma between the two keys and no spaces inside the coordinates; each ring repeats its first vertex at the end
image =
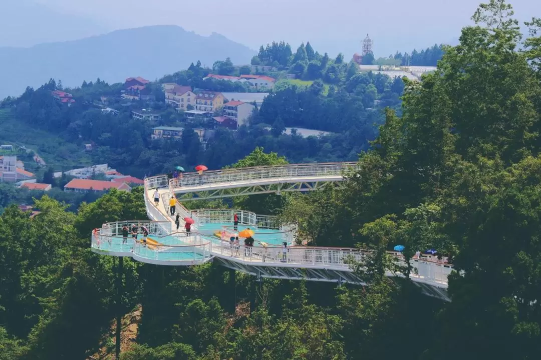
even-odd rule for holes
{"type": "MultiPolygon", "coordinates": [[[[184,131],[189,128],[204,151],[219,129],[236,132],[249,125],[250,119],[258,119],[259,111],[269,93],[280,93],[289,86],[309,91],[318,81],[322,81],[318,86],[322,85],[322,91],[326,94],[329,91],[338,91],[336,86],[344,81],[344,76],[347,80],[355,73],[364,74],[367,78],[383,76],[391,80],[402,77],[420,80],[422,74],[436,69],[434,66],[400,66],[400,60],[397,59],[392,59],[388,64],[367,65],[365,60],[367,54],[370,57],[370,51],[363,52],[362,56],[355,54],[351,62],[346,64],[341,54],[334,60],[329,59],[327,54],[321,56],[314,52],[309,43],[301,44],[295,53],[291,52],[289,45],[273,43],[272,46],[267,45],[267,49],[260,49],[259,57],[254,57],[250,65],[235,66],[227,58],[215,62],[212,69],[197,62],[187,71],[154,81],[135,74],[136,76],[127,78],[122,84],[109,85],[98,78],[95,82],[84,81],[81,87],[68,89],[62,86],[61,81],[56,83],[51,79],[52,83],[50,81],[45,88],[50,89],[50,97],[61,111],[75,107],[75,111],[79,113],[81,110],[94,109],[99,110],[104,117],[129,117],[135,121],[134,124],[144,124],[148,130],[142,135],[150,141],[181,140],[184,131]],[[283,59],[287,60],[284,62],[283,59]],[[307,61],[310,63],[306,63],[307,61]],[[314,66],[319,70],[314,70],[314,66]]],[[[397,103],[398,99],[393,99],[392,102],[384,100],[384,90],[378,89],[381,99],[380,96],[375,96],[364,102],[367,111],[372,107],[397,103]]],[[[400,92],[400,89],[396,91],[400,92]]],[[[24,97],[23,94],[22,98],[24,97]]],[[[267,123],[262,130],[274,133],[274,125],[267,123]]],[[[284,134],[303,138],[329,136],[334,132],[338,133],[338,128],[327,131],[317,124],[287,127],[286,123],[283,127],[284,134]]],[[[85,137],[80,133],[78,138],[85,137]]],[[[16,144],[3,146],[14,145],[16,144]]],[[[16,146],[20,145],[22,144],[16,146]]],[[[84,142],[80,146],[88,154],[100,151],[100,146],[95,141],[84,142]]],[[[39,155],[35,154],[34,161],[37,169],[45,167],[45,162],[39,155]]],[[[36,175],[26,170],[24,164],[25,162],[17,159],[14,154],[0,157],[0,182],[42,192],[57,186],[67,193],[100,193],[111,188],[130,191],[132,187],[143,184],[142,179],[123,175],[109,168],[107,164],[90,164],[86,167],[56,171],[54,176],[49,176],[49,181],[43,181],[43,171],[37,171],[39,174],[36,175]]]]}

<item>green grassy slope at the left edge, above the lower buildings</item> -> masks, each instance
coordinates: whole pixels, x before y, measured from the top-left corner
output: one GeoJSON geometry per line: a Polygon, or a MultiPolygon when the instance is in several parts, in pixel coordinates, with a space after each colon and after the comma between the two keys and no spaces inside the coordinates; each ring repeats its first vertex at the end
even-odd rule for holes
{"type": "Polygon", "coordinates": [[[18,121],[9,109],[0,109],[0,143],[26,146],[39,154],[55,171],[87,166],[91,161],[82,147],[18,121]]]}

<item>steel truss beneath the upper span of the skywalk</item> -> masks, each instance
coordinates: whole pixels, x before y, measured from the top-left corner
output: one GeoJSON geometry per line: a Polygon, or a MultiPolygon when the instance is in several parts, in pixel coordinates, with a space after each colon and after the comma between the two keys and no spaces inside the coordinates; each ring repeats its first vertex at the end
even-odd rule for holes
{"type": "Polygon", "coordinates": [[[236,187],[214,188],[212,190],[182,189],[176,188],[176,198],[180,201],[188,200],[207,200],[218,198],[229,198],[230,196],[271,194],[280,195],[282,192],[293,191],[314,191],[326,186],[343,187],[342,182],[336,180],[321,181],[297,181],[283,182],[279,184],[256,184],[256,185],[236,185],[236,187]]]}

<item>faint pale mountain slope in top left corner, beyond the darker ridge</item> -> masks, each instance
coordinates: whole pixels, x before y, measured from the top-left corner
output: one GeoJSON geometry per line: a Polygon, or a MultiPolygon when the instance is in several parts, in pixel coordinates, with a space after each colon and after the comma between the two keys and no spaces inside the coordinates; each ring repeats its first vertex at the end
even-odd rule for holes
{"type": "Polygon", "coordinates": [[[0,46],[28,47],[107,31],[89,18],[63,14],[34,0],[0,0],[0,46]]]}

